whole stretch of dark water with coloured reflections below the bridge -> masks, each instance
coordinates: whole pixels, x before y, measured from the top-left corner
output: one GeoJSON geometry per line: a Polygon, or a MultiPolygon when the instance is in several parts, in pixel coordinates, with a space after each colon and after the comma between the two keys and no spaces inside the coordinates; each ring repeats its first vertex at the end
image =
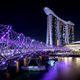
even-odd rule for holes
{"type": "Polygon", "coordinates": [[[59,57],[48,71],[15,72],[15,68],[0,71],[0,80],[80,80],[80,58],[59,57]]]}

